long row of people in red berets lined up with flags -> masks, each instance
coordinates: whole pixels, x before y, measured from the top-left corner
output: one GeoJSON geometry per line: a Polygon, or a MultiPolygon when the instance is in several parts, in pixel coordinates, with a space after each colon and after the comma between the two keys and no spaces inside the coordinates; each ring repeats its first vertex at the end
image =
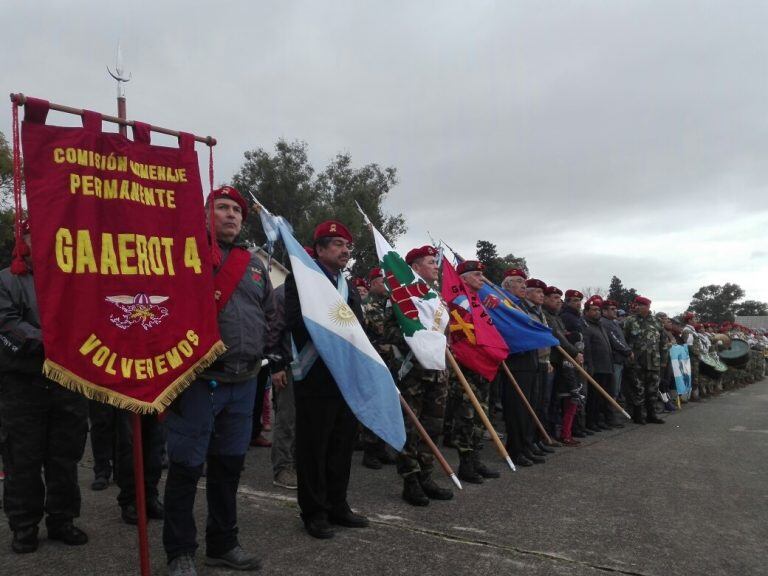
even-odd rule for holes
{"type": "MultiPolygon", "coordinates": [[[[248,205],[231,187],[214,191],[207,202],[213,206],[209,225],[222,249],[223,267],[229,254],[245,249],[238,235],[248,205]]],[[[25,234],[29,238],[31,232],[25,234]]],[[[367,278],[346,278],[352,241],[343,223],[327,221],[318,224],[306,250],[365,326],[429,436],[435,442],[442,437],[444,447],[456,449],[459,479],[482,484],[499,477],[482,457],[487,430],[456,375],[426,369],[410,353],[381,269],[372,269],[367,278]]],[[[434,286],[440,281],[439,257],[427,245],[409,250],[405,260],[434,286]]],[[[332,538],[339,527],[369,524],[347,502],[356,446],[369,469],[396,464],[402,498],[409,504],[427,506],[454,496],[436,480],[435,457],[410,421],[398,453],[357,423],[322,358],[312,356],[293,276],[273,288],[259,258],[251,254],[248,265],[255,272],[242,276],[218,317],[227,352],[197,377],[162,422],[142,417],[146,513],[164,520],[163,544],[174,576],[196,574],[193,506],[201,477],[207,484],[206,563],[259,568],[256,555],[245,551],[237,538],[236,492],[249,447],[271,450],[274,484],[298,491],[304,528],[319,539],[332,538]],[[161,498],[163,468],[168,472],[161,498]]],[[[483,286],[483,270],[476,260],[462,261],[456,269],[469,293],[483,286]]],[[[701,323],[691,313],[680,318],[654,314],[651,300],[643,296],[629,310],[620,310],[612,300],[562,290],[523,269],[508,270],[501,290],[532,320],[548,326],[559,343],[509,355],[506,364],[520,392],[504,373],[489,380],[465,367],[481,409],[495,423],[517,467],[544,464],[558,449],[579,447],[586,436],[628,425],[582,369],[623,406],[635,425],[662,424],[661,412],[765,375],[766,334],[738,324],[701,323]],[[735,341],[747,344],[746,358],[722,365],[719,353],[735,341]],[[669,354],[673,345],[686,347],[690,358],[690,392],[681,395],[669,354]]],[[[497,302],[486,299],[484,304],[497,302]]],[[[4,508],[14,534],[13,550],[37,549],[43,518],[49,538],[69,545],[88,541],[74,524],[80,511],[77,465],[88,420],[91,488],[100,492],[116,482],[121,517],[136,524],[129,414],[96,402],[89,409],[83,397],[42,375],[31,275],[0,272],[0,335],[4,508]]]]}

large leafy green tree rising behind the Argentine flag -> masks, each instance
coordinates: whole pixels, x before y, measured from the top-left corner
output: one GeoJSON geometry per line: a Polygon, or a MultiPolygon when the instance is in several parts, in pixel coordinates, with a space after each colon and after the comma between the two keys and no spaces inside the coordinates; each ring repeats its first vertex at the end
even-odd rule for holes
{"type": "MultiPolygon", "coordinates": [[[[355,239],[351,273],[363,276],[378,264],[373,236],[365,227],[357,201],[373,224],[392,244],[405,230],[402,214],[387,214],[383,202],[397,184],[395,168],[352,165],[349,154],[338,154],[316,172],[308,159],[306,142],[280,140],[274,153],[262,148],[246,152],[245,162],[232,180],[246,196],[253,193],[273,214],[284,216],[299,242],[312,243],[312,232],[323,220],[343,222],[355,239]]],[[[266,237],[258,218],[249,219],[243,238],[263,245],[266,237]]],[[[280,249],[276,257],[285,263],[280,249]]]]}

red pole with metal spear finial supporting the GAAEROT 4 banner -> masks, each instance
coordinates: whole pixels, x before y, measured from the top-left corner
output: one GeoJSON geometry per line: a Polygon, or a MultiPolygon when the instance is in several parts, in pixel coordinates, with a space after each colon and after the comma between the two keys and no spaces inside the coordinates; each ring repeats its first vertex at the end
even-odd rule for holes
{"type": "MultiPolygon", "coordinates": [[[[117,81],[117,117],[120,120],[127,120],[127,110],[125,105],[125,90],[123,84],[128,82],[131,77],[125,76],[123,69],[123,54],[120,50],[120,43],[117,44],[117,54],[115,57],[115,72],[109,68],[107,72],[117,81]]],[[[120,134],[128,136],[128,125],[120,123],[120,134]]],[[[138,521],[136,528],[139,536],[139,568],[141,576],[150,575],[149,566],[149,542],[147,539],[147,495],[144,491],[144,446],[141,437],[141,415],[138,412],[131,412],[131,427],[133,428],[133,480],[136,487],[136,515],[138,521]]]]}

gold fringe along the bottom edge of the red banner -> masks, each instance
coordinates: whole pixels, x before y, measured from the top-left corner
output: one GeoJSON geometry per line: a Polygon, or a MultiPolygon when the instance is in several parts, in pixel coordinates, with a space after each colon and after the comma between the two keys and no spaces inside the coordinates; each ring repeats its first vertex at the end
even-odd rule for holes
{"type": "Polygon", "coordinates": [[[216,358],[221,356],[226,349],[227,347],[224,346],[224,342],[221,340],[216,342],[200,360],[171,382],[154,402],[137,400],[93,382],[88,382],[52,360],[46,360],[43,363],[43,375],[61,384],[68,390],[82,394],[89,400],[103,402],[116,408],[139,414],[159,414],[164,412],[178,395],[197,378],[197,375],[213,364],[216,358]]]}

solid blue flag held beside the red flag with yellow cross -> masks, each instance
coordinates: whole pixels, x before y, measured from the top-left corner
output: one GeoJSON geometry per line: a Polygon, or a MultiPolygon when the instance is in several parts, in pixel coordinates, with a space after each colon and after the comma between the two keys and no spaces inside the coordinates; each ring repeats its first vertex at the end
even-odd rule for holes
{"type": "Polygon", "coordinates": [[[492,288],[486,284],[480,288],[478,294],[483,302],[488,298],[499,301],[498,306],[485,308],[491,315],[496,330],[507,343],[510,354],[560,345],[560,341],[552,335],[552,330],[532,320],[528,314],[517,310],[512,305],[517,298],[506,290],[498,286],[492,288]]]}

